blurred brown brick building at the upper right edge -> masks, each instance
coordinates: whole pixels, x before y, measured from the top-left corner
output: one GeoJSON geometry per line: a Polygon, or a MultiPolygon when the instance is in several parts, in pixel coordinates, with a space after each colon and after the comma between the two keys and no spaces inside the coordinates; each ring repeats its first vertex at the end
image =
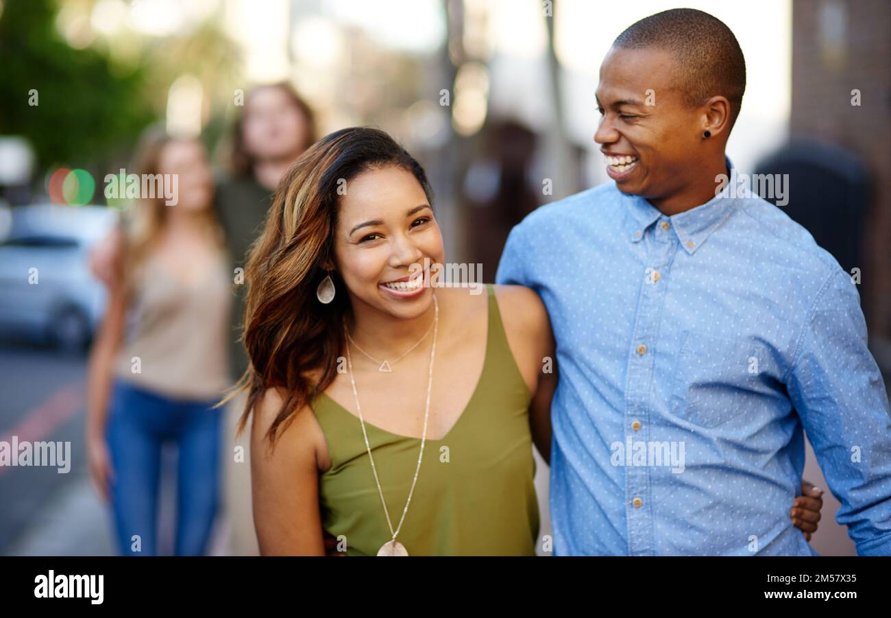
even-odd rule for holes
{"type": "Polygon", "coordinates": [[[841,146],[859,155],[868,170],[860,293],[871,337],[887,340],[891,338],[891,3],[795,0],[792,10],[791,133],[841,146]],[[854,104],[858,93],[859,105],[854,104]]]}

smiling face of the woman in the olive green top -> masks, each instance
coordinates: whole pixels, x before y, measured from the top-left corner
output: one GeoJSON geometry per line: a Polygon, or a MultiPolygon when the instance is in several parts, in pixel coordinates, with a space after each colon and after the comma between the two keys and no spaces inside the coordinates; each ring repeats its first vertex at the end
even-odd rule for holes
{"type": "Polygon", "coordinates": [[[433,289],[422,282],[445,259],[443,238],[411,172],[388,165],[347,183],[334,254],[354,309],[364,304],[403,319],[429,309],[433,289]]]}

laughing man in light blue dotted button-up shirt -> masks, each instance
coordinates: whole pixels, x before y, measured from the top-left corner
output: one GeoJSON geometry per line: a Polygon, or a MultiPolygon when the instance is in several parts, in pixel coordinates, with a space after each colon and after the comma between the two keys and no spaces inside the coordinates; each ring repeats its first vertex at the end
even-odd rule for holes
{"type": "Polygon", "coordinates": [[[813,554],[789,520],[803,429],[858,553],[891,554],[891,419],[856,287],[769,202],[715,194],[745,86],[722,21],[634,23],[597,90],[613,182],[508,239],[497,281],[534,288],[557,341],[555,554],[813,554]],[[666,445],[680,466],[650,457],[666,445]]]}

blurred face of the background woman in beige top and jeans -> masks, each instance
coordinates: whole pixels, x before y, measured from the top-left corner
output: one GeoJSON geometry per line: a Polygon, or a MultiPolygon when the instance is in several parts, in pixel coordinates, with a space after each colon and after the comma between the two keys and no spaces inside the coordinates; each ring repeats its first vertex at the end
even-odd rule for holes
{"type": "Polygon", "coordinates": [[[204,210],[214,196],[213,171],[204,144],[195,140],[174,140],[164,145],[158,161],[165,187],[176,189],[178,201],[170,208],[204,210]],[[176,183],[172,178],[176,176],[176,183]]]}

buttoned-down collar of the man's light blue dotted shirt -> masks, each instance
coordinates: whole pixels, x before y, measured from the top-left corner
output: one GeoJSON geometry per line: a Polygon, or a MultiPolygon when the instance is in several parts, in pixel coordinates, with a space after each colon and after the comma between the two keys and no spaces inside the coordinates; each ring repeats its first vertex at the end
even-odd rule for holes
{"type": "MultiPolygon", "coordinates": [[[[730,157],[724,156],[727,162],[727,169],[733,174],[733,163],[730,157]]],[[[646,233],[648,227],[653,225],[659,218],[666,219],[681,246],[688,254],[693,254],[703,243],[706,242],[709,235],[720,226],[723,221],[730,216],[733,211],[734,201],[722,195],[716,195],[704,204],[700,204],[690,210],[684,210],[671,217],[666,217],[658,208],[647,202],[640,195],[627,195],[631,198],[631,204],[628,209],[631,241],[639,242],[646,233]]]]}

